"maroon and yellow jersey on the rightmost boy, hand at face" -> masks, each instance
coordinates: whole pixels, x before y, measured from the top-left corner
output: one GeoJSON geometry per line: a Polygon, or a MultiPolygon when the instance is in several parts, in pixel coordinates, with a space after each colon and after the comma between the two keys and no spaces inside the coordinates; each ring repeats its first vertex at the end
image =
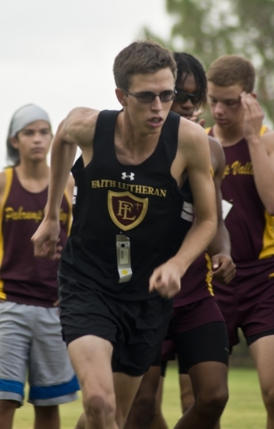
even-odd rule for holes
{"type": "MultiPolygon", "coordinates": [[[[212,130],[209,134],[213,136],[212,130]]],[[[223,149],[227,164],[221,192],[232,204],[225,219],[232,258],[237,264],[274,256],[274,217],[266,212],[256,189],[247,142],[241,139],[223,149]]]]}

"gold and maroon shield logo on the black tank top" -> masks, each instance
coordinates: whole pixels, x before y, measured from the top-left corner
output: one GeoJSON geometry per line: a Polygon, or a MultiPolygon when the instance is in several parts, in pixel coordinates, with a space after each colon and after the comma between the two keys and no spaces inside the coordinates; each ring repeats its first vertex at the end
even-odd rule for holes
{"type": "Polygon", "coordinates": [[[108,191],[107,205],[112,221],[121,230],[128,231],[135,228],[145,217],[148,198],[137,198],[129,191],[108,191]]]}

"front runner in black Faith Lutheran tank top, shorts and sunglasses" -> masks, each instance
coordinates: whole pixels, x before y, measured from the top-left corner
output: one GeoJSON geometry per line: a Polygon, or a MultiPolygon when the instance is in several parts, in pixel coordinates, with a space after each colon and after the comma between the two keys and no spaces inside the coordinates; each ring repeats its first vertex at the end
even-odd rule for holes
{"type": "Polygon", "coordinates": [[[36,255],[59,257],[56,216],[79,146],[82,156],[72,169],[78,193],[59,282],[86,429],[123,427],[164,338],[169,298],[216,231],[206,135],[170,113],[172,55],[153,42],[134,42],[117,55],[113,71],[123,110],[77,108],[61,123],[46,216],[33,239],[36,255]],[[180,190],[186,172],[196,206],[188,232],[180,190]]]}

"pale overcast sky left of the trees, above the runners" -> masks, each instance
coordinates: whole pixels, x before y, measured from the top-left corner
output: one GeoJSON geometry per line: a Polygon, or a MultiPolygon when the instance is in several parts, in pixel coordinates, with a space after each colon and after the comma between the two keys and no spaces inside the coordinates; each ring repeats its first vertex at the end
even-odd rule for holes
{"type": "Polygon", "coordinates": [[[165,0],[7,0],[0,7],[0,169],[12,114],[35,103],[56,130],[71,108],[116,109],[112,63],[143,26],[167,37],[165,0]]]}

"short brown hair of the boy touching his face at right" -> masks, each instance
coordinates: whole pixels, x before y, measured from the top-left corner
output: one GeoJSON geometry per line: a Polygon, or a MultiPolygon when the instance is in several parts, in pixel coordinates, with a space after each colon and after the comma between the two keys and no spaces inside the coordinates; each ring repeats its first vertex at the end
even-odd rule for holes
{"type": "Polygon", "coordinates": [[[242,56],[223,55],[210,65],[207,80],[219,87],[240,85],[245,92],[251,93],[255,83],[255,70],[253,64],[242,56]]]}

